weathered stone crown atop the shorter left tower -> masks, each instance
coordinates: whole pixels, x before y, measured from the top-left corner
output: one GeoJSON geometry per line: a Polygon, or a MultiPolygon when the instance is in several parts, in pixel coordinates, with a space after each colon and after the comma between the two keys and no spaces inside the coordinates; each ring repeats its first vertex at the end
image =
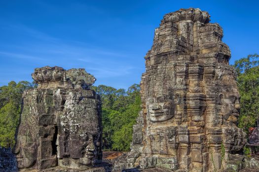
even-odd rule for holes
{"type": "Polygon", "coordinates": [[[96,81],[96,78],[83,68],[65,70],[58,66],[36,68],[32,78],[38,84],[38,88],[89,89],[96,81]]]}

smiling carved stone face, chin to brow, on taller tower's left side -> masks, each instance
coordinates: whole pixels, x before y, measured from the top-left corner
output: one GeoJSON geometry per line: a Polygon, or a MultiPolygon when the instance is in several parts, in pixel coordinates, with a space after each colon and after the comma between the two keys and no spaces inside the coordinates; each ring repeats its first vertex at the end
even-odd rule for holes
{"type": "Polygon", "coordinates": [[[148,116],[152,122],[162,122],[176,114],[174,96],[149,97],[147,99],[148,116]]]}

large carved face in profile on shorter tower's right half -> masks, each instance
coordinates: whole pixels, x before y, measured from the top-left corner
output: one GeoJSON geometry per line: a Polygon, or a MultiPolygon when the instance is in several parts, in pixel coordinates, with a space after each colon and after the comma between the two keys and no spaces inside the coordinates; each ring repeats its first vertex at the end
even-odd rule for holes
{"type": "MultiPolygon", "coordinates": [[[[99,101],[93,91],[69,92],[60,118],[62,130],[59,137],[58,156],[72,158],[76,164],[92,166],[101,159],[101,117],[99,101]],[[88,97],[88,98],[86,98],[88,97]],[[73,104],[78,106],[72,106],[73,104]],[[93,108],[96,107],[96,108],[93,108]]],[[[66,161],[66,160],[64,160],[66,161]]],[[[64,166],[71,168],[71,164],[64,166]]]]}

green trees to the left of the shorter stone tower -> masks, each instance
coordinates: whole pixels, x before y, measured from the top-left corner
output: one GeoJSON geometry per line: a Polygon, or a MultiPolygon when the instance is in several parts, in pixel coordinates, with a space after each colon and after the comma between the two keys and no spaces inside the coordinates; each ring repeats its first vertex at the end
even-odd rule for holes
{"type": "Polygon", "coordinates": [[[15,130],[21,113],[22,93],[25,89],[34,86],[27,81],[21,81],[18,84],[11,81],[8,86],[0,87],[0,146],[14,145],[15,130]]]}

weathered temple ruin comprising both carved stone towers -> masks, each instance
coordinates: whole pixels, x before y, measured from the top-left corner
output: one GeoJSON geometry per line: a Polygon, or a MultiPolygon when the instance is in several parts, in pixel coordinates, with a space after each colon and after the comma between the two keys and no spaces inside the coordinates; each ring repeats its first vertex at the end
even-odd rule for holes
{"type": "Polygon", "coordinates": [[[94,167],[102,161],[101,101],[90,89],[95,78],[84,69],[35,69],[38,87],[23,93],[18,168],[215,172],[240,166],[246,134],[237,127],[236,74],[222,28],[209,22],[198,8],[163,17],[145,57],[131,151],[109,170],[94,167]]]}

